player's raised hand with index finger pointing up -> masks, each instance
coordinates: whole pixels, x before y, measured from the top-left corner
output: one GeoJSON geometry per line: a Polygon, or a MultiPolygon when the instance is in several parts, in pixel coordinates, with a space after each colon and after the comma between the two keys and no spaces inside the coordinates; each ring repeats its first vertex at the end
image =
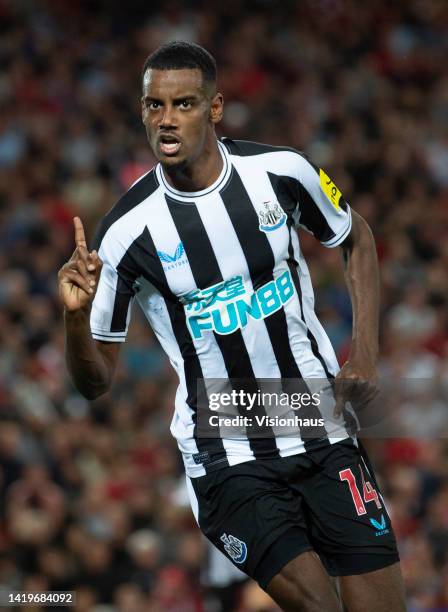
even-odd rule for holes
{"type": "Polygon", "coordinates": [[[58,273],[59,297],[67,311],[90,308],[98,286],[103,262],[96,251],[87,250],[84,227],[73,219],[76,249],[58,273]]]}

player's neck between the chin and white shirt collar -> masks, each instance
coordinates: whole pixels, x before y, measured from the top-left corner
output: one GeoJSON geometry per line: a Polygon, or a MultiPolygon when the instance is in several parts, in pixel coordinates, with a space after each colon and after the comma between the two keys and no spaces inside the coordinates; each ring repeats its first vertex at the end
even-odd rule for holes
{"type": "Polygon", "coordinates": [[[223,161],[216,136],[207,140],[201,154],[193,162],[181,167],[163,167],[165,178],[171,187],[179,191],[207,189],[221,174],[223,161]]]}

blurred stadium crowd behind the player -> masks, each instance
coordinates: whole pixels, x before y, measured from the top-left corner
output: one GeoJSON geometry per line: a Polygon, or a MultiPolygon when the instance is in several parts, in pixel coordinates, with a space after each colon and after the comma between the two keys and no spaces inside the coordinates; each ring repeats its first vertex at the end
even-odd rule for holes
{"type": "MultiPolygon", "coordinates": [[[[154,163],[140,70],[172,39],[216,56],[220,134],[305,151],[373,228],[381,371],[430,384],[401,397],[401,439],[367,445],[409,609],[448,610],[445,0],[0,0],[0,585],[76,589],[77,611],[202,610],[173,372],[135,310],[113,392],[88,403],[67,377],[57,299],[74,214],[91,236],[154,163]]],[[[340,255],[302,240],[343,361],[340,255]]],[[[238,612],[274,609],[251,592],[238,612]]]]}

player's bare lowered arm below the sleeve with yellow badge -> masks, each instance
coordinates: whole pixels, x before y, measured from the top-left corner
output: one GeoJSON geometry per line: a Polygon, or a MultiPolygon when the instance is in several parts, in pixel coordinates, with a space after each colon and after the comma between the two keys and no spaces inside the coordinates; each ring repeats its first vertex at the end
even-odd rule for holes
{"type": "Polygon", "coordinates": [[[341,243],[344,275],[352,302],[353,331],[348,360],[336,377],[335,416],[349,399],[364,404],[377,393],[379,271],[375,240],[352,210],[350,234],[341,243]]]}

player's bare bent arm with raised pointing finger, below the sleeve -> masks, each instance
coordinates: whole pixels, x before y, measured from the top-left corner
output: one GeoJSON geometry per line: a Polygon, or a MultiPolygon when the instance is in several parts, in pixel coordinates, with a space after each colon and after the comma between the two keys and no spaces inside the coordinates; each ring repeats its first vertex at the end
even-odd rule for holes
{"type": "Polygon", "coordinates": [[[74,226],[76,249],[58,274],[59,297],[64,306],[66,362],[78,391],[87,399],[95,399],[112,384],[120,343],[92,338],[90,310],[102,261],[96,251],[87,250],[78,217],[74,226]]]}

